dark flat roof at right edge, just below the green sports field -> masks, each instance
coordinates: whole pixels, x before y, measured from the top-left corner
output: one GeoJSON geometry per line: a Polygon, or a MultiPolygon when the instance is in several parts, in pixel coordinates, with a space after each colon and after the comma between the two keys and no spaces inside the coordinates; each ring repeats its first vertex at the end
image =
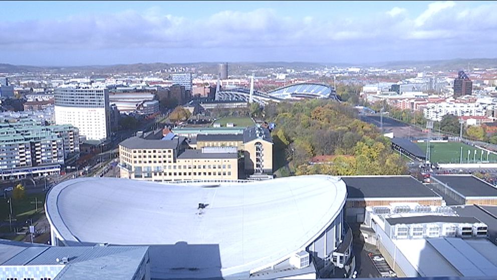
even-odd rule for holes
{"type": "Polygon", "coordinates": [[[466,198],[497,197],[497,188],[471,175],[434,175],[432,177],[466,198]]]}

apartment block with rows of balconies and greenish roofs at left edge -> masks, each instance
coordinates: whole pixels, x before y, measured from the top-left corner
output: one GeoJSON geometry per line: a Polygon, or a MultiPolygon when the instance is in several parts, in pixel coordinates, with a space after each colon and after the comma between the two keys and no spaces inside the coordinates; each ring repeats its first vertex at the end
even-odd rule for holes
{"type": "Polygon", "coordinates": [[[0,123],[3,180],[57,173],[79,154],[79,132],[71,125],[42,125],[29,119],[0,123]]]}

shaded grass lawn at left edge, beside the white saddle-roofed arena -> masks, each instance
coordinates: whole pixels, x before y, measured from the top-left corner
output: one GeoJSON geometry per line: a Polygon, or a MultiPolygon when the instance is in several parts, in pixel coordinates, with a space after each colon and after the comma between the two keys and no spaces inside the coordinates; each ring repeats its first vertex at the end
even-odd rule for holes
{"type": "MultiPolygon", "coordinates": [[[[12,215],[19,219],[28,218],[30,215],[35,214],[35,197],[38,199],[38,212],[44,211],[45,193],[26,195],[23,200],[12,199],[12,215]],[[33,203],[31,203],[33,202],[33,203]]],[[[2,221],[9,221],[9,199],[0,198],[0,219],[2,221]]]]}

